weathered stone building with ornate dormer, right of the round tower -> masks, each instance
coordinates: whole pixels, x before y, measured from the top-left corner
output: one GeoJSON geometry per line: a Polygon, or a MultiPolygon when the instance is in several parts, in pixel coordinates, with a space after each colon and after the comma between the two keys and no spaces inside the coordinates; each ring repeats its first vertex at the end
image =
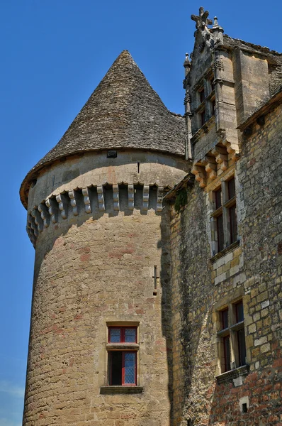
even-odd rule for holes
{"type": "Polygon", "coordinates": [[[217,20],[210,31],[199,17],[192,61],[184,62],[186,153],[195,178],[187,175],[165,197],[173,425],[281,425],[281,87],[269,96],[270,64],[276,55],[280,72],[281,55],[239,40],[230,44],[217,20]],[[237,304],[244,310],[240,320],[237,304]]]}

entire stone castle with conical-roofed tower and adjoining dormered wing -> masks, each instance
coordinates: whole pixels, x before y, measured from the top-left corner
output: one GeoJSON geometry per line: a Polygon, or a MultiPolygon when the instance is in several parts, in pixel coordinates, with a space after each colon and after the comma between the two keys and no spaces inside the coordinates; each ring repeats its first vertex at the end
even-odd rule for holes
{"type": "Polygon", "coordinates": [[[184,116],[125,50],[23,180],[24,426],[281,425],[282,55],[191,18],[184,116]]]}

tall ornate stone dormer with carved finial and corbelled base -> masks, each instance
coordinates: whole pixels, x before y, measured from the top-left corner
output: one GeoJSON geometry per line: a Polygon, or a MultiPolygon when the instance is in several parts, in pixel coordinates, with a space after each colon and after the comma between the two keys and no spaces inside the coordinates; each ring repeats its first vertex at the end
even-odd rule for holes
{"type": "Polygon", "coordinates": [[[199,9],[193,53],[184,62],[186,157],[201,187],[239,158],[237,126],[269,98],[271,75],[281,70],[281,56],[223,34],[218,18],[199,9]],[[273,72],[274,70],[274,72],[273,72]]]}

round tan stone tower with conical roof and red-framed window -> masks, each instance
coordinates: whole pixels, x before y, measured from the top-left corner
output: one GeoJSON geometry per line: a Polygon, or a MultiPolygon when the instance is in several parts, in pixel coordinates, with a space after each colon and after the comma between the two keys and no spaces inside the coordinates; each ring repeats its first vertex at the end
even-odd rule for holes
{"type": "Polygon", "coordinates": [[[164,193],[185,121],[125,50],[23,180],[35,274],[25,426],[169,425],[164,193]]]}

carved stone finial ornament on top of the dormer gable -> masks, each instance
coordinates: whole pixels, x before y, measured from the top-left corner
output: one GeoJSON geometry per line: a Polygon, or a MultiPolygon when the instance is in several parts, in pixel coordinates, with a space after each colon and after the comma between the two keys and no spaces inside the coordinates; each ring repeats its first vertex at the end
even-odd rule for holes
{"type": "Polygon", "coordinates": [[[209,11],[205,11],[203,6],[199,9],[198,15],[191,15],[192,21],[196,22],[196,33],[199,31],[203,37],[203,49],[204,45],[207,45],[208,48],[213,50],[215,47],[218,47],[223,44],[223,28],[218,24],[218,18],[215,16],[214,21],[208,18],[209,11]],[[212,28],[208,28],[209,25],[213,25],[212,28]]]}

